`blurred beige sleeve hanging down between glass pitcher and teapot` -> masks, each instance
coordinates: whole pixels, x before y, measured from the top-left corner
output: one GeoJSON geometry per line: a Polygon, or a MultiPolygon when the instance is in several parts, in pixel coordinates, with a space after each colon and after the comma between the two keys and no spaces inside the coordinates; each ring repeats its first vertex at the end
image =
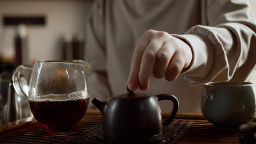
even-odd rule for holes
{"type": "Polygon", "coordinates": [[[87,75],[90,95],[89,109],[95,108],[91,103],[92,99],[97,97],[106,100],[110,94],[106,72],[103,7],[103,1],[95,1],[86,27],[85,59],[92,65],[87,75]]]}

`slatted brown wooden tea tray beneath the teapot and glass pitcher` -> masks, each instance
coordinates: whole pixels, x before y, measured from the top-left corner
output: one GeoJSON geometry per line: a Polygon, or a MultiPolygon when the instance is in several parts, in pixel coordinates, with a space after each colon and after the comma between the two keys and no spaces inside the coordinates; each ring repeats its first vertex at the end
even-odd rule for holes
{"type": "MultiPolygon", "coordinates": [[[[101,124],[98,110],[88,110],[77,126],[68,131],[43,129],[30,117],[0,125],[0,143],[106,143],[95,136],[101,124]]],[[[240,143],[242,135],[241,131],[215,129],[201,113],[178,113],[170,127],[177,130],[176,137],[161,143],[240,143]]]]}

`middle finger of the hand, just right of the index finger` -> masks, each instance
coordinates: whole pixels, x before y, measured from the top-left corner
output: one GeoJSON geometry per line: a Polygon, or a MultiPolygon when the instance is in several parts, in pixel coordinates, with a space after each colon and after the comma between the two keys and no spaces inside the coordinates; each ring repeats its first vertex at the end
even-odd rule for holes
{"type": "Polygon", "coordinates": [[[162,46],[160,40],[150,41],[146,50],[143,53],[141,68],[139,70],[139,88],[146,90],[149,87],[150,77],[153,74],[153,69],[155,65],[156,55],[162,46]]]}

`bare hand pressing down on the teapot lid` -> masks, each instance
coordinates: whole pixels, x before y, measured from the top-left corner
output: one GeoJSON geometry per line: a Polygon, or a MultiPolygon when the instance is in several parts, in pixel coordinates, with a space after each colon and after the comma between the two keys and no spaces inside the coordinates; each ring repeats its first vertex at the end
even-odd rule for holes
{"type": "Polygon", "coordinates": [[[148,30],[135,47],[126,85],[131,91],[149,88],[150,77],[175,80],[192,59],[190,46],[167,32],[148,30]]]}

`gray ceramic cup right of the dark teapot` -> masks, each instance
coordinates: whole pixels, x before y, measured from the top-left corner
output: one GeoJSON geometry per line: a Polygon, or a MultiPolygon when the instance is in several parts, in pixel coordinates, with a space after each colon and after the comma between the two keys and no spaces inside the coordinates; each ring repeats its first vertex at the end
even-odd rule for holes
{"type": "Polygon", "coordinates": [[[253,84],[249,82],[209,82],[201,93],[201,111],[217,128],[238,128],[255,117],[253,84]]]}

